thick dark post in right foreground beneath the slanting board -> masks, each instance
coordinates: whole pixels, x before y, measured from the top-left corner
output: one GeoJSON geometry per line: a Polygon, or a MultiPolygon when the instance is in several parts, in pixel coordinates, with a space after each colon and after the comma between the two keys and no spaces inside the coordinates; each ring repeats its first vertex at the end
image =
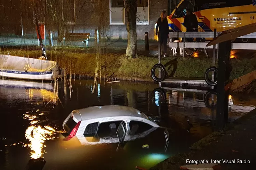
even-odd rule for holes
{"type": "Polygon", "coordinates": [[[225,91],[225,83],[229,80],[231,71],[230,51],[231,41],[219,43],[218,60],[218,84],[217,84],[217,109],[216,109],[216,128],[223,130],[228,119],[228,90],[225,91]]]}

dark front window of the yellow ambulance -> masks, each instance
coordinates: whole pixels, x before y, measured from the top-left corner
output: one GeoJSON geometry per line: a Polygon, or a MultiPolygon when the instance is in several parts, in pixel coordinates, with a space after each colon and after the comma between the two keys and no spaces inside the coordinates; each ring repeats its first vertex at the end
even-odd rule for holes
{"type": "Polygon", "coordinates": [[[186,15],[186,10],[190,9],[194,11],[195,0],[184,0],[180,6],[176,9],[172,18],[180,18],[186,15]]]}

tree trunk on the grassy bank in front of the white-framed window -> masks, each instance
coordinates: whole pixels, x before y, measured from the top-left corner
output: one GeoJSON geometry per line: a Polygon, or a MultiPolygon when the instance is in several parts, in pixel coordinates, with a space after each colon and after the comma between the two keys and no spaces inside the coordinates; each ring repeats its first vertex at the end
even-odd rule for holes
{"type": "Polygon", "coordinates": [[[136,58],[137,54],[137,0],[125,0],[125,22],[127,30],[126,56],[136,58]]]}

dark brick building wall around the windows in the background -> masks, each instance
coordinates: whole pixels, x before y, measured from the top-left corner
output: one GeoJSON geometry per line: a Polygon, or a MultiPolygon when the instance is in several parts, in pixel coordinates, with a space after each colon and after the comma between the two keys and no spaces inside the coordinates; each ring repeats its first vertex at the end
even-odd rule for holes
{"type": "MultiPolygon", "coordinates": [[[[25,11],[23,12],[23,30],[24,35],[32,35],[36,36],[35,32],[35,26],[33,24],[33,17],[32,17],[32,8],[28,8],[26,1],[23,1],[23,8],[25,11]]],[[[70,0],[69,0],[70,1],[70,0]]],[[[80,32],[80,33],[91,33],[91,38],[94,36],[94,30],[97,29],[99,26],[104,26],[103,31],[105,31],[106,35],[109,38],[119,38],[119,39],[127,39],[127,31],[125,25],[110,25],[110,1],[109,0],[74,0],[75,4],[75,10],[72,11],[72,8],[70,8],[70,14],[68,15],[74,15],[75,11],[75,25],[69,25],[66,26],[66,30],[69,32],[80,32]],[[96,2],[98,1],[98,4],[96,2]],[[100,14],[100,5],[103,9],[103,16],[104,20],[99,21],[99,15],[100,14]],[[104,23],[103,23],[104,22],[104,23]]],[[[13,4],[12,4],[13,5],[13,4]]],[[[19,12],[19,3],[15,4],[15,10],[12,11],[12,14],[18,14],[19,12]]],[[[160,16],[161,11],[168,9],[168,0],[150,0],[149,1],[149,23],[147,25],[137,25],[137,38],[138,39],[144,39],[144,33],[148,32],[149,38],[154,39],[154,26],[157,21],[157,19],[160,16]]],[[[7,10],[7,9],[6,9],[7,10]]],[[[3,12],[3,11],[2,11],[3,12]]],[[[66,12],[65,15],[67,16],[66,12]]],[[[5,28],[8,28],[3,30],[0,29],[0,33],[9,33],[9,34],[17,34],[17,32],[21,32],[21,23],[20,19],[18,19],[17,22],[17,16],[20,15],[10,15],[10,17],[13,16],[13,19],[10,20],[16,20],[16,23],[10,22],[7,23],[6,18],[0,18],[2,20],[0,23],[4,22],[5,28]],[[13,26],[13,24],[16,24],[17,26],[13,26]],[[13,28],[13,29],[12,29],[13,28]],[[16,28],[16,29],[14,29],[16,28]],[[17,30],[17,28],[19,28],[17,30]],[[7,31],[7,32],[6,32],[7,31]]],[[[47,16],[46,16],[47,17],[47,16]]],[[[71,17],[72,18],[72,17],[71,17]]],[[[8,19],[9,20],[9,19],[8,19]]],[[[49,24],[47,24],[47,18],[46,18],[46,36],[48,36],[47,30],[49,29],[49,24]]],[[[55,27],[57,29],[57,27],[55,27]]],[[[54,36],[57,36],[56,30],[53,31],[54,36]]]]}

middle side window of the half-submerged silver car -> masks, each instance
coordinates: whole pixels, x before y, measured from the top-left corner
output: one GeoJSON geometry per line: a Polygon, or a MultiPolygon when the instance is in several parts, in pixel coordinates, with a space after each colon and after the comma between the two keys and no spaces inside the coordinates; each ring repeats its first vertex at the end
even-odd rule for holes
{"type": "MultiPolygon", "coordinates": [[[[124,121],[110,121],[110,122],[100,123],[98,136],[100,138],[105,138],[105,137],[117,138],[116,130],[121,122],[125,124],[124,121]]],[[[126,126],[125,126],[125,130],[126,130],[126,126]]]]}

